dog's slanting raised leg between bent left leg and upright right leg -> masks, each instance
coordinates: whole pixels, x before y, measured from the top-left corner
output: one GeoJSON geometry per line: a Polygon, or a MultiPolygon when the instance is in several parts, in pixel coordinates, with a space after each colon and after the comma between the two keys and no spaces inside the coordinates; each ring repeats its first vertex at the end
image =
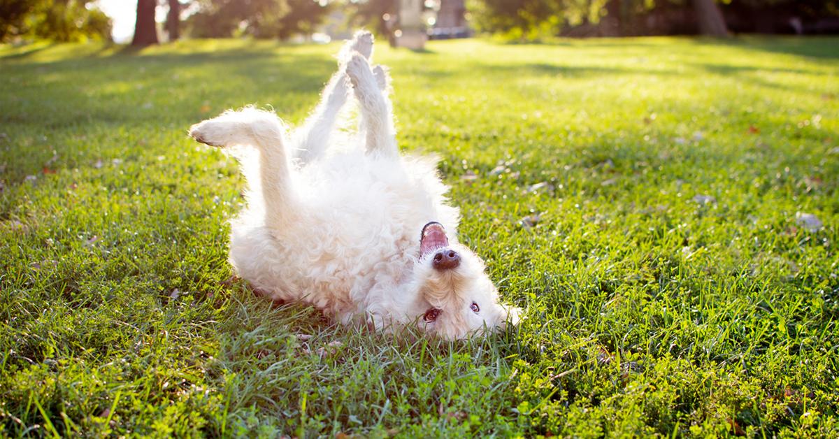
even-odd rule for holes
{"type": "MultiPolygon", "coordinates": [[[[338,55],[338,64],[346,63],[346,60],[354,52],[370,58],[373,55],[373,34],[364,31],[357,32],[341,48],[338,55]]],[[[341,66],[320,93],[320,102],[315,107],[315,111],[292,134],[294,159],[298,160],[300,165],[308,165],[326,151],[326,147],[329,145],[329,137],[335,129],[338,112],[347,102],[348,89],[347,73],[341,66]]]]}

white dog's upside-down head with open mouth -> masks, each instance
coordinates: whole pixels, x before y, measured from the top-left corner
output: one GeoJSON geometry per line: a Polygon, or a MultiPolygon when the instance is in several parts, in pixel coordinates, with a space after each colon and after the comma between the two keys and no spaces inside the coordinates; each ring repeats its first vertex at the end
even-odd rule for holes
{"type": "Polygon", "coordinates": [[[465,338],[519,322],[519,308],[498,303],[481,258],[450,242],[439,222],[422,229],[413,286],[425,307],[420,327],[440,337],[465,338]]]}

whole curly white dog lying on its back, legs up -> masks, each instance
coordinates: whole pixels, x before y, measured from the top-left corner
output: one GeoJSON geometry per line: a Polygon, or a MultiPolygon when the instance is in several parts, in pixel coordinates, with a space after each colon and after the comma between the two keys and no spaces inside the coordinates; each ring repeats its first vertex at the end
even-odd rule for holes
{"type": "Polygon", "coordinates": [[[274,113],[250,107],[190,129],[230,151],[248,180],[248,207],[232,221],[233,267],[274,300],[343,323],[417,322],[449,339],[515,324],[519,310],[498,303],[482,260],[457,242],[459,213],[435,162],[399,155],[389,78],[369,64],[372,51],[365,32],[345,45],[320,104],[290,134],[274,113]],[[336,118],[351,88],[355,148],[327,154],[340,143],[336,118]]]}

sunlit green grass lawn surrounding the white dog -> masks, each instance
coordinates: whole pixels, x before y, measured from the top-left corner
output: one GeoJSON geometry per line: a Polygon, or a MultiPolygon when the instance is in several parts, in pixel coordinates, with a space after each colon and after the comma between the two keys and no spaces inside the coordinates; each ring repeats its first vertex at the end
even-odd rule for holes
{"type": "Polygon", "coordinates": [[[0,47],[0,436],[839,435],[839,39],[380,45],[526,308],[472,342],[225,282],[243,181],[186,129],[300,122],[336,48],[0,47]]]}

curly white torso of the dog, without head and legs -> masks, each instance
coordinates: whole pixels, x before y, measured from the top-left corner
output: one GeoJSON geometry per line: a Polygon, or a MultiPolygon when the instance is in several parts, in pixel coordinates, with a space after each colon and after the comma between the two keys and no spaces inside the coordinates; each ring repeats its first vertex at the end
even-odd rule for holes
{"type": "Polygon", "coordinates": [[[287,227],[269,230],[258,206],[232,222],[237,274],[275,300],[303,301],[341,321],[363,315],[371,295],[397,294],[409,279],[426,222],[456,230],[456,209],[437,180],[412,178],[433,176],[428,166],[351,154],[300,172],[297,219],[287,227]]]}

